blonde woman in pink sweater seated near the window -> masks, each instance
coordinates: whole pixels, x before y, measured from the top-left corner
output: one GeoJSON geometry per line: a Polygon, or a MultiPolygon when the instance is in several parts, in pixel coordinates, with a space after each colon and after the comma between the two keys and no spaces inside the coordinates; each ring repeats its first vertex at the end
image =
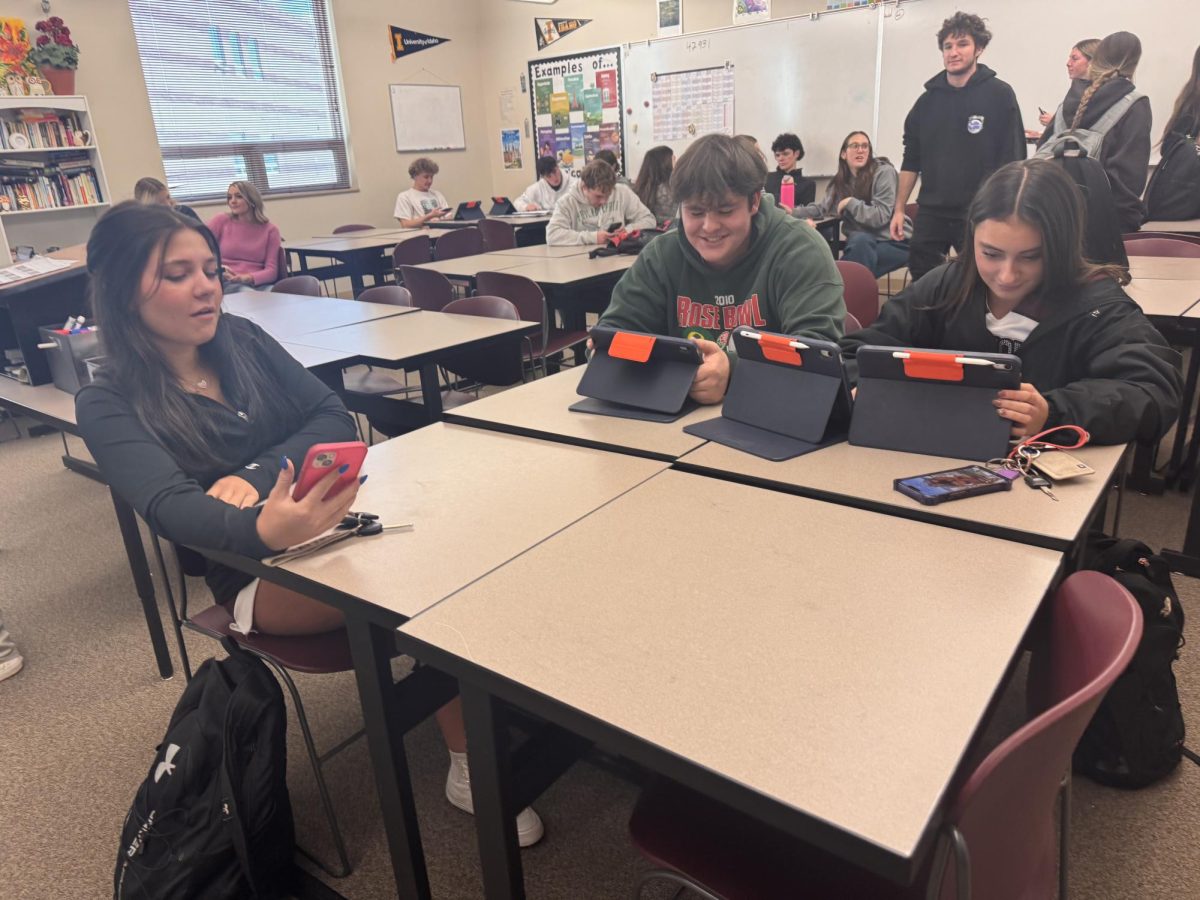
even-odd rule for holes
{"type": "Polygon", "coordinates": [[[263,211],[263,194],[248,181],[234,181],[226,192],[228,212],[209,221],[221,247],[226,290],[263,287],[280,278],[280,229],[263,211]]]}

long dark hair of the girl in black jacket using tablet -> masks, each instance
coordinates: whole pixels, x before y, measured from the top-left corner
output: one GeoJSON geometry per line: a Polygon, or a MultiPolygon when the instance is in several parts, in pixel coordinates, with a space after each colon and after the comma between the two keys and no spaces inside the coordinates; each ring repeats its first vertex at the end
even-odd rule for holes
{"type": "Polygon", "coordinates": [[[1061,166],[1050,160],[1010,162],[989,178],[971,200],[962,253],[954,260],[950,290],[937,306],[953,316],[983,286],[974,260],[974,234],[980,222],[1015,218],[1042,235],[1042,283],[1036,298],[1074,294],[1090,281],[1129,276],[1121,266],[1096,265],[1084,258],[1084,196],[1061,166]]]}

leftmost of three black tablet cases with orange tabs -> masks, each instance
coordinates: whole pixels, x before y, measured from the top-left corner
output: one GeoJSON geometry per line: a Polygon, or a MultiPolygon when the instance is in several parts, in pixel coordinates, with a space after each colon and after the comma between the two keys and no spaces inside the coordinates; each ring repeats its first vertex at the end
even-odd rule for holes
{"type": "Polygon", "coordinates": [[[572,403],[572,410],[650,421],[683,415],[700,367],[695,343],[600,326],[592,329],[592,342],[595,353],[576,389],[588,400],[572,403]]]}

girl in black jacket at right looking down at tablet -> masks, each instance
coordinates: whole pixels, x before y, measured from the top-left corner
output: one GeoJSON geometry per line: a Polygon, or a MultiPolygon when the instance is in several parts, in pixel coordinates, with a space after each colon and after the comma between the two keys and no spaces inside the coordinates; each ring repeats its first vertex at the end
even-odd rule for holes
{"type": "Polygon", "coordinates": [[[1082,221],[1057,163],[1004,166],[967,210],[965,252],[842,338],[848,367],[863,344],[1012,353],[1025,382],[994,402],[1014,438],[1058,425],[1097,444],[1162,437],[1180,412],[1180,354],[1122,290],[1122,270],[1084,259],[1082,221]]]}

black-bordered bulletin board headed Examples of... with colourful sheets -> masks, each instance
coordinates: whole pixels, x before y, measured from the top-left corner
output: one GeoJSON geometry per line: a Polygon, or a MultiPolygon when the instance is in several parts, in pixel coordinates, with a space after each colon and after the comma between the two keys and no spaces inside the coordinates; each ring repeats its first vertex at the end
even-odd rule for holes
{"type": "Polygon", "coordinates": [[[530,60],[529,84],[538,156],[577,174],[598,150],[612,150],[624,168],[618,47],[530,60]]]}

